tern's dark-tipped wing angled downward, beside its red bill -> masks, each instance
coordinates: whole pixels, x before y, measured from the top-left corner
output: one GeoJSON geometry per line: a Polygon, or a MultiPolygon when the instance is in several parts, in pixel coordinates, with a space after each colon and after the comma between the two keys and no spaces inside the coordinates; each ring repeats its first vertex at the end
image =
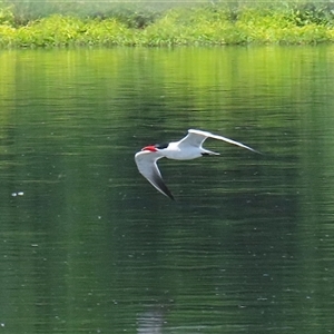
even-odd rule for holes
{"type": "Polygon", "coordinates": [[[160,170],[157,166],[157,160],[163,158],[158,151],[138,151],[135,155],[139,173],[161,194],[174,199],[170,190],[165,185],[160,170]]]}

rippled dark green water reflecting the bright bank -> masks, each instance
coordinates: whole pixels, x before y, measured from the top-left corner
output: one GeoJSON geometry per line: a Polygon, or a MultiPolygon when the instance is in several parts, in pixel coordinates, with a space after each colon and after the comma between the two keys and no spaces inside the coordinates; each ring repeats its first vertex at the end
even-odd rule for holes
{"type": "Polygon", "coordinates": [[[0,331],[332,333],[334,48],[0,53],[0,331]],[[223,157],[143,146],[200,128],[223,157]]]}

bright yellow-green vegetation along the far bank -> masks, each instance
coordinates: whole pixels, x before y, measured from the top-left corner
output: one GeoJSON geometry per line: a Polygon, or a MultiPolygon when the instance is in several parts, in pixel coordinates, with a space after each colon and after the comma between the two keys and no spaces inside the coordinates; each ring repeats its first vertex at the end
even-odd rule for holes
{"type": "MultiPolygon", "coordinates": [[[[47,3],[47,2],[46,2],[47,3]]],[[[45,6],[46,6],[45,3],[45,6]]],[[[1,47],[222,46],[334,41],[334,3],[202,3],[168,9],[43,8],[0,2],[1,47]]]]}

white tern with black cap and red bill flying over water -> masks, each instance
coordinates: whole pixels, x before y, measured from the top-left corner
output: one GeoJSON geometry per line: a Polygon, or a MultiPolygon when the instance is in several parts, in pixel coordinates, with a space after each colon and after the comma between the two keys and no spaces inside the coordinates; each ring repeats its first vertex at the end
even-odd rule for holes
{"type": "Polygon", "coordinates": [[[161,158],[174,160],[191,160],[203,156],[219,156],[218,153],[203,148],[203,143],[207,138],[224,140],[226,143],[246,148],[254,153],[261,154],[258,150],[246,146],[242,143],[229,138],[214,135],[209,131],[189,129],[186,137],[179,141],[164,143],[145,146],[140,151],[136,153],[135,161],[139,173],[163,195],[175,200],[173,194],[166,186],[157,161],[161,158]]]}

